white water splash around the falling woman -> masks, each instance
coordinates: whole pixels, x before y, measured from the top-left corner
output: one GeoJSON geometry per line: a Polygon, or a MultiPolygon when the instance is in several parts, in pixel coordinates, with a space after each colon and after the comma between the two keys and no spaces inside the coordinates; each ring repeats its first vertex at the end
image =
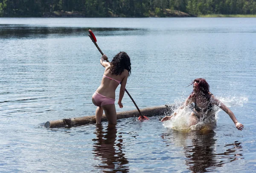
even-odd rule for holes
{"type": "MultiPolygon", "coordinates": [[[[219,99],[224,105],[226,105],[228,108],[230,107],[243,107],[244,103],[248,102],[248,98],[244,96],[229,96],[229,97],[216,97],[219,99]]],[[[189,132],[194,130],[211,130],[215,128],[216,122],[218,119],[218,112],[221,111],[221,109],[218,106],[213,106],[212,108],[212,114],[215,114],[214,116],[204,116],[204,121],[198,122],[196,125],[189,125],[190,124],[190,115],[192,113],[192,109],[189,108],[189,106],[179,109],[180,102],[175,102],[175,106],[177,106],[178,109],[174,110],[174,113],[176,113],[175,116],[173,116],[170,120],[164,121],[163,125],[166,128],[172,128],[178,131],[183,132],[189,132]]],[[[171,115],[168,115],[171,116],[171,115]]]]}

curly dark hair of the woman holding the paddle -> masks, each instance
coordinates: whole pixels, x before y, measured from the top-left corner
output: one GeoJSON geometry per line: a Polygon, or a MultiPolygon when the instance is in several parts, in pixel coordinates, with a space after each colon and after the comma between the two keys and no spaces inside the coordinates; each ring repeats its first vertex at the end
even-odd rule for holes
{"type": "Polygon", "coordinates": [[[110,74],[120,75],[125,69],[128,70],[128,76],[131,74],[130,57],[125,52],[116,54],[110,65],[110,74]]]}

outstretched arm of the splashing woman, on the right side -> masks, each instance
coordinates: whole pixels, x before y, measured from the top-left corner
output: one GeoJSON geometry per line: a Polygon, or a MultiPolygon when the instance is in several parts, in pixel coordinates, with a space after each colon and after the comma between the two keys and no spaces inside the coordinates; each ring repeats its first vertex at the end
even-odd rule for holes
{"type": "Polygon", "coordinates": [[[232,121],[236,125],[236,128],[238,130],[243,130],[244,125],[242,125],[240,122],[237,121],[235,114],[226,105],[224,105],[221,101],[216,99],[214,96],[212,96],[212,99],[213,99],[213,102],[214,102],[215,105],[220,107],[223,111],[225,111],[230,116],[230,118],[232,119],[232,121]]]}

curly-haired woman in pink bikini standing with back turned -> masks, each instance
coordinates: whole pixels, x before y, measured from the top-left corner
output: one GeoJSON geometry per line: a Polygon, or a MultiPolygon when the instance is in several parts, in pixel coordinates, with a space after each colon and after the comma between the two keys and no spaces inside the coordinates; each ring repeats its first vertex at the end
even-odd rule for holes
{"type": "Polygon", "coordinates": [[[125,85],[128,76],[131,74],[130,57],[125,52],[119,52],[113,57],[111,62],[105,62],[108,57],[104,54],[100,63],[105,67],[102,82],[96,92],[93,94],[93,104],[96,109],[96,124],[101,122],[103,110],[108,119],[109,124],[116,124],[116,107],[115,107],[115,91],[121,83],[118,105],[122,105],[122,98],[125,94],[125,85]]]}

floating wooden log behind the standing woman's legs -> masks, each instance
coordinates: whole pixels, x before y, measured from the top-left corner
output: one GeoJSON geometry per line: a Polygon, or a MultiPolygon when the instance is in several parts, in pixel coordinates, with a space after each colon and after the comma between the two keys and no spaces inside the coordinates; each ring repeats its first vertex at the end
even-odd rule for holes
{"type": "MultiPolygon", "coordinates": [[[[141,109],[140,111],[144,116],[151,117],[151,116],[164,115],[165,113],[170,114],[173,112],[174,109],[175,109],[175,105],[161,105],[161,106],[144,108],[144,109],[141,109]]],[[[140,116],[140,113],[138,112],[137,109],[116,113],[117,119],[129,118],[132,116],[136,116],[136,117],[140,116]]],[[[105,114],[103,114],[101,121],[102,122],[108,121],[105,114]]],[[[79,125],[86,125],[90,123],[96,123],[95,115],[47,121],[44,126],[46,128],[63,128],[63,127],[74,127],[79,125]]]]}

